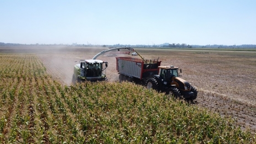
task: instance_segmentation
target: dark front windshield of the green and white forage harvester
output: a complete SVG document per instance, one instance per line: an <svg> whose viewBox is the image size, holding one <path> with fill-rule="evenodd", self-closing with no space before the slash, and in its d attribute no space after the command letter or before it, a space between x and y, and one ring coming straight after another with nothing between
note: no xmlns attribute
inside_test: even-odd
<svg viewBox="0 0 256 144"><path fill-rule="evenodd" d="M101 76L102 63L87 63L86 76L87 77L99 77Z"/></svg>

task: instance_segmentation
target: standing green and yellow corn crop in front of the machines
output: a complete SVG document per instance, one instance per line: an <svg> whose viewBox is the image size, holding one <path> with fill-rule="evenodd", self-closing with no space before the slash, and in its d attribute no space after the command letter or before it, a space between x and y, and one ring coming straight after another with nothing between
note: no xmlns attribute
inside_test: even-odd
<svg viewBox="0 0 256 144"><path fill-rule="evenodd" d="M1 144L255 144L230 118L132 83L63 86L35 54L0 53Z"/></svg>

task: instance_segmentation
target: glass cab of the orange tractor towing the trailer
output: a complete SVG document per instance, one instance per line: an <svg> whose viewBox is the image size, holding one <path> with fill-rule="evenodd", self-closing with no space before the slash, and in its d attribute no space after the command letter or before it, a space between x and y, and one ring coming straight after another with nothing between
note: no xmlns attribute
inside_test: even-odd
<svg viewBox="0 0 256 144"><path fill-rule="evenodd" d="M179 77L178 67L175 66L159 66L159 75L163 79L164 84L170 84L173 78Z"/></svg>

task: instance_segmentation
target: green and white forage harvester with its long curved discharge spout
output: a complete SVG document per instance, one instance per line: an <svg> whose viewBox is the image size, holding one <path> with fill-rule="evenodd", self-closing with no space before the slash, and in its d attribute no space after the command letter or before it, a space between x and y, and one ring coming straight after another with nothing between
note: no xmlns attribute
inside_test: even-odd
<svg viewBox="0 0 256 144"><path fill-rule="evenodd" d="M133 48L126 48L126 47L110 48L96 54L92 59L80 60L79 64L76 64L74 66L72 83L75 83L76 81L84 81L84 80L90 80L90 81L107 80L106 69L107 69L108 63L106 61L102 61L96 58L109 51L113 51L113 50L119 51L120 49L128 49L128 50L134 51Z"/></svg>

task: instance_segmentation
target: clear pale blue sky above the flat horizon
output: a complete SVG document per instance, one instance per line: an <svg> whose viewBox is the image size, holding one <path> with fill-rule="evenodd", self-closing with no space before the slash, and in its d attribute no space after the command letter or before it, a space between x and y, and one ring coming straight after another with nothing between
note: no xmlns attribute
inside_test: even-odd
<svg viewBox="0 0 256 144"><path fill-rule="evenodd" d="M0 0L0 42L256 44L256 0Z"/></svg>

